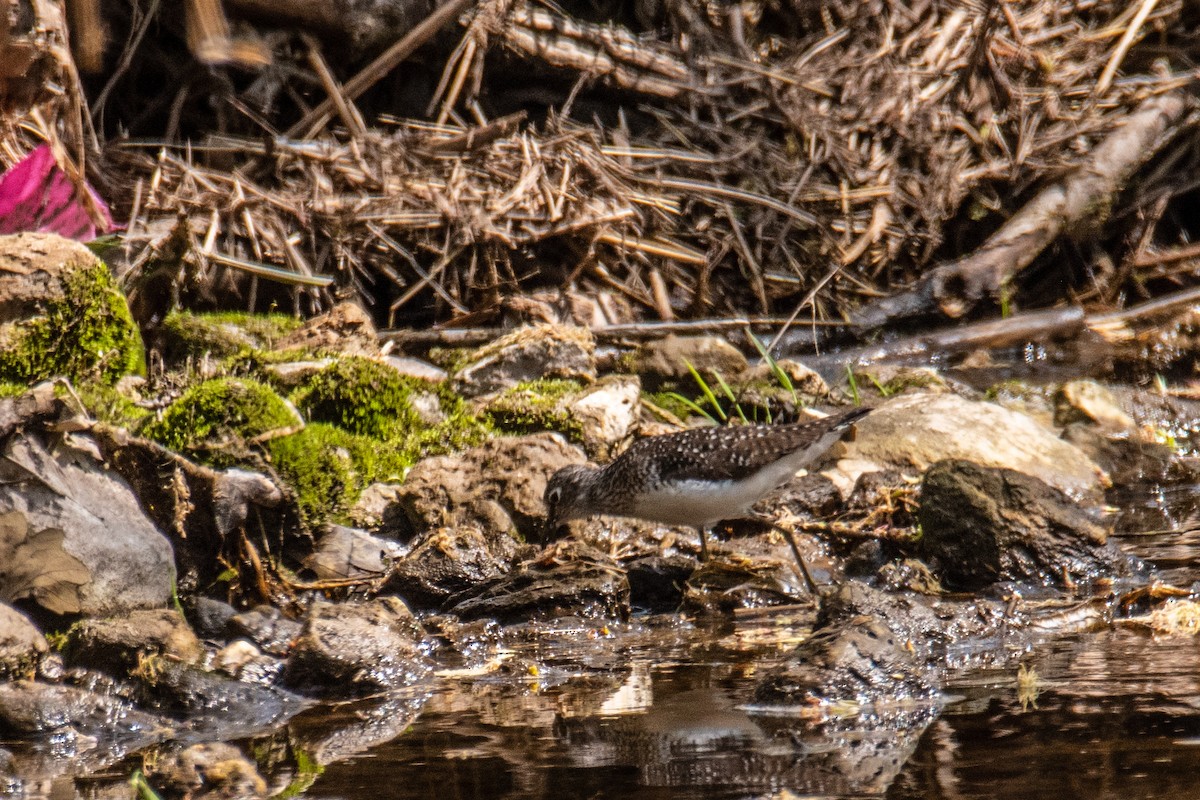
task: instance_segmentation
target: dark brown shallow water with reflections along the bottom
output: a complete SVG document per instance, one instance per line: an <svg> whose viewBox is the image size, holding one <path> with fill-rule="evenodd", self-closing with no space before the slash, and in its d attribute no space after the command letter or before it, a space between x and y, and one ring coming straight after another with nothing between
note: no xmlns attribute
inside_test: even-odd
<svg viewBox="0 0 1200 800"><path fill-rule="evenodd" d="M1180 492L1129 494L1118 529L1178 524L1172 515L1200 499ZM1121 541L1176 585L1200 577L1200 531ZM815 723L748 705L756 675L790 646L786 621L760 613L526 643L516 661L540 657L545 672L442 684L407 733L329 765L307 796L1200 796L1193 638L1117 626L968 651L941 709Z"/></svg>

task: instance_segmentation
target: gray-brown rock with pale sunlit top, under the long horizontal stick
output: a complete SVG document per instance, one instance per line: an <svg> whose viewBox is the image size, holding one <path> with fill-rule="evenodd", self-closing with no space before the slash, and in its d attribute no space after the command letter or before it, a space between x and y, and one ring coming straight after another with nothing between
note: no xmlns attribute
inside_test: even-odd
<svg viewBox="0 0 1200 800"><path fill-rule="evenodd" d="M479 397L539 378L596 375L595 342L584 327L522 327L476 350L454 375L463 397Z"/></svg>

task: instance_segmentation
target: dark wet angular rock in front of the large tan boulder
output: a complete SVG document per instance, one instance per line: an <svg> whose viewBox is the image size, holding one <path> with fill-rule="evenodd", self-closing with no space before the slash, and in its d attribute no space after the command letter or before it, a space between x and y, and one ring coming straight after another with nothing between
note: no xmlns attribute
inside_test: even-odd
<svg viewBox="0 0 1200 800"><path fill-rule="evenodd" d="M1009 469L959 459L935 464L922 485L919 519L922 551L961 589L997 581L1064 587L1130 575L1138 566L1108 543L1108 529L1078 503Z"/></svg>

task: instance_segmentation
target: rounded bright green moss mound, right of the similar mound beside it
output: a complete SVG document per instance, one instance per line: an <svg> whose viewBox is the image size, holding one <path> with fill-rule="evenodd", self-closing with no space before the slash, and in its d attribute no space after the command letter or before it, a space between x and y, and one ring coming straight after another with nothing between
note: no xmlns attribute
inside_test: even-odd
<svg viewBox="0 0 1200 800"><path fill-rule="evenodd" d="M409 396L420 384L370 359L348 357L318 372L295 395L316 422L377 439L406 435L419 425Z"/></svg>

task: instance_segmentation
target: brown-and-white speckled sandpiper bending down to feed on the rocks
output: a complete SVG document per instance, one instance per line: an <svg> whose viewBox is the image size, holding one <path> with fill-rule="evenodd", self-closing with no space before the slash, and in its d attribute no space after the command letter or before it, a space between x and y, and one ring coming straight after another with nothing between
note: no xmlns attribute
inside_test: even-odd
<svg viewBox="0 0 1200 800"><path fill-rule="evenodd" d="M707 559L708 529L745 517L750 506L808 467L870 411L856 408L812 422L692 428L635 441L604 468L564 467L546 485L547 523L593 515L636 517L700 531ZM779 528L816 591L796 539Z"/></svg>

